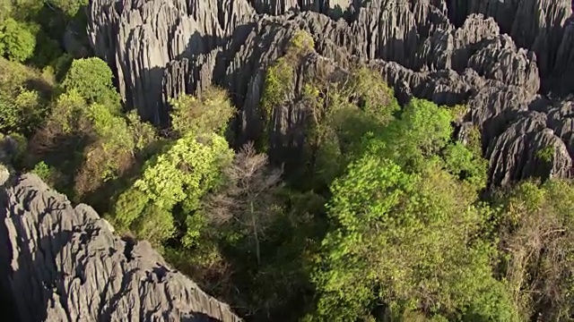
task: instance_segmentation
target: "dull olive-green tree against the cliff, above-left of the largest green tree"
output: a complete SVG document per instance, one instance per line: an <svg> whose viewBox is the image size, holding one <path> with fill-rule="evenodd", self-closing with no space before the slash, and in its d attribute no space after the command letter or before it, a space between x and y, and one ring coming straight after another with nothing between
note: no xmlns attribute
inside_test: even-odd
<svg viewBox="0 0 574 322"><path fill-rule="evenodd" d="M303 98L311 120L306 133L309 172L319 189L361 157L361 138L366 133L385 129L399 110L393 90L380 73L365 67L344 77L316 76L306 84Z"/></svg>

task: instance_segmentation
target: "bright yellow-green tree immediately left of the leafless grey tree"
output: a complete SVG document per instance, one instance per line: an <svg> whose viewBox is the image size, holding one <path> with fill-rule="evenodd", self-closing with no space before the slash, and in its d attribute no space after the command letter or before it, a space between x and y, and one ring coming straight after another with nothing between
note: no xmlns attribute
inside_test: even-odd
<svg viewBox="0 0 574 322"><path fill-rule="evenodd" d="M188 134L147 163L140 179L119 196L111 215L113 220L120 229L162 242L174 233L171 209L181 204L185 212L183 220L188 224L183 242L194 245L204 225L194 217L201 216L195 214L200 200L219 183L222 167L228 165L232 157L232 150L221 136ZM145 218L149 219L152 214L164 217L157 223L166 226L156 227L159 231L151 230L153 227L146 224Z"/></svg>

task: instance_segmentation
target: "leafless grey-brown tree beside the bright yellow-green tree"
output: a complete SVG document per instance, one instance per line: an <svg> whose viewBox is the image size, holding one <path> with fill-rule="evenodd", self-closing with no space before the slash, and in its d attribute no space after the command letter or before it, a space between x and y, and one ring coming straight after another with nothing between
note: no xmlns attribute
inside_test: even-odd
<svg viewBox="0 0 574 322"><path fill-rule="evenodd" d="M277 190L283 185L281 169L257 154L252 142L239 150L233 163L223 170L227 182L208 199L206 210L216 225L237 224L247 228L255 241L257 265L261 262L260 237L274 217Z"/></svg>

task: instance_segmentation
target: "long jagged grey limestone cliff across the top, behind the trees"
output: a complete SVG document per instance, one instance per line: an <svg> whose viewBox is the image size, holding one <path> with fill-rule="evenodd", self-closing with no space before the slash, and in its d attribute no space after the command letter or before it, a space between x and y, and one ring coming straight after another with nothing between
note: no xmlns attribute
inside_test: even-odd
<svg viewBox="0 0 574 322"><path fill-rule="evenodd" d="M459 125L482 130L491 182L570 175L569 0L94 0L89 9L96 54L117 70L126 104L154 123L169 123L170 97L214 83L240 109L239 137L256 138L265 70L307 30L315 55L367 62L399 97L466 104ZM304 106L276 109L284 117L270 137L285 141L272 145L300 145L303 135L290 133L301 133L292 120ZM543 160L548 146L553 157Z"/></svg>

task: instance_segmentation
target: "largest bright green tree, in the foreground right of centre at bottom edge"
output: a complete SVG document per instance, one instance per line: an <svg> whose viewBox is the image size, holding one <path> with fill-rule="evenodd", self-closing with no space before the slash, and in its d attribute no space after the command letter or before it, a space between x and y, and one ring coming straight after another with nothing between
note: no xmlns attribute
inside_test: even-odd
<svg viewBox="0 0 574 322"><path fill-rule="evenodd" d="M491 275L494 249L474 239L486 217L473 206L476 192L439 164L407 174L387 159L363 157L332 192L336 228L315 275L317 320L354 321L377 301L389 318L422 310L513 320L504 285Z"/></svg>

